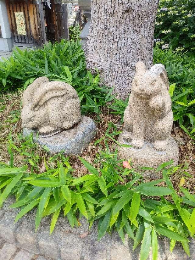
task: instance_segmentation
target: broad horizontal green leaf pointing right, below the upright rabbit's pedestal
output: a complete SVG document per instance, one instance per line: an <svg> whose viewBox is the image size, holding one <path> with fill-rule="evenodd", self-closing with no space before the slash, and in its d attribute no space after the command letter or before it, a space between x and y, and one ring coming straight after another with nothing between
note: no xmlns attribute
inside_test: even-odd
<svg viewBox="0 0 195 260"><path fill-rule="evenodd" d="M165 196L174 193L174 190L171 190L167 187L161 186L142 186L137 189L137 192L140 192L146 196Z"/></svg>

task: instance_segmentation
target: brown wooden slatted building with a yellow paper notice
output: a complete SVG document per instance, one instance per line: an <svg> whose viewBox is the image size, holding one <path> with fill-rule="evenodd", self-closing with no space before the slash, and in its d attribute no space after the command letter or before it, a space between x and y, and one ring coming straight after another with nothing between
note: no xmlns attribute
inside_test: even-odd
<svg viewBox="0 0 195 260"><path fill-rule="evenodd" d="M69 39L67 5L60 1L0 0L0 5L6 8L4 16L7 18L5 17L4 20L9 21L7 30L12 45L40 47L47 41ZM1 31L5 23L0 20ZM0 41L0 50L2 48Z"/></svg>

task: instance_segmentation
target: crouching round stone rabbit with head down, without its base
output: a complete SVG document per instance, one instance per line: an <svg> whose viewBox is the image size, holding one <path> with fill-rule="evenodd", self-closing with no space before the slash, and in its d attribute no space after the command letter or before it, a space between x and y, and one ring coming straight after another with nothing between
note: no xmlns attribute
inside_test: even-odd
<svg viewBox="0 0 195 260"><path fill-rule="evenodd" d="M42 136L70 129L81 118L76 90L65 82L49 82L47 77L39 77L27 87L22 103L22 126Z"/></svg>

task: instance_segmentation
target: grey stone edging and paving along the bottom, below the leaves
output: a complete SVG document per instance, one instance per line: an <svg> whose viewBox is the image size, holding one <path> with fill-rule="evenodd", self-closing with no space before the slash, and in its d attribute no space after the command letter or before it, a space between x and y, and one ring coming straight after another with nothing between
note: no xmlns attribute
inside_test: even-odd
<svg viewBox="0 0 195 260"><path fill-rule="evenodd" d="M133 241L125 239L123 244L119 235L106 234L97 241L97 226L89 233L88 224L80 220L81 226L71 228L68 220L60 216L54 232L49 235L51 217L45 217L35 233L35 211L26 214L18 222L14 219L19 209L9 208L15 202L8 198L0 209L0 260L138 260L140 248L132 250ZM168 239L159 239L159 259L195 259L195 240L190 243L191 257L176 244L173 252L169 250ZM149 260L152 260L150 252Z"/></svg>

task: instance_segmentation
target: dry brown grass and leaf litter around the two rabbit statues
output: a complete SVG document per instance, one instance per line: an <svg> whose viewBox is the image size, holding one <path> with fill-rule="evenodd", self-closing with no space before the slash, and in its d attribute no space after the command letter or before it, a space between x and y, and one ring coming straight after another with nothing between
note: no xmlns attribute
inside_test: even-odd
<svg viewBox="0 0 195 260"><path fill-rule="evenodd" d="M0 96L0 161L4 163L9 162L9 153L7 151L8 139L11 136L12 142L16 147L21 148L24 146L26 140L22 137L22 127L20 119L21 110L21 97L22 92L9 93L7 95ZM104 141L100 142L100 145L94 146L94 142L105 135L105 131L108 128L108 122L115 123L117 125L117 130L122 130L120 125L120 118L109 113L107 109L102 109L102 114L98 120L95 115L89 115L92 117L97 125L97 135L94 141L88 146L86 150L83 151L82 157L88 162L93 163L96 158L96 154L100 149L105 149ZM11 135L10 135L11 132ZM171 181L174 187L178 190L181 177L186 178L183 187L187 187L191 193L194 193L195 188L195 143L191 140L185 132L175 127L173 128L172 136L176 139L179 144L180 149L180 159L179 164L183 166L188 166L186 169L186 175L183 171L178 170L174 175L171 176ZM11 140L10 139L10 140ZM108 140L108 145L111 151L115 149L115 142ZM33 154L36 158L36 163L38 166L37 172L41 172L44 169L44 158L51 166L55 164L50 162L51 154L42 149L38 144L33 144L30 146L25 146L25 151L29 154ZM87 169L81 164L78 156L70 156L69 162L74 171L74 176L81 176L87 173ZM31 167L30 163L24 155L21 155L18 151L14 151L14 165L22 166L24 163ZM187 176L190 174L192 177Z"/></svg>

